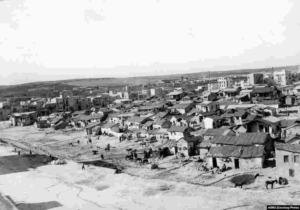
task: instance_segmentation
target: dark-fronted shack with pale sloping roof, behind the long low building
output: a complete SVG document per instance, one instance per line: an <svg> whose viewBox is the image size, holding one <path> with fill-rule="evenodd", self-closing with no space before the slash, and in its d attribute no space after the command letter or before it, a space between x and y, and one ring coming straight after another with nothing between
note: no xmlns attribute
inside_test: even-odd
<svg viewBox="0 0 300 210"><path fill-rule="evenodd" d="M247 132L269 133L272 138L280 138L280 121L280 118L274 116L258 118L247 123Z"/></svg>

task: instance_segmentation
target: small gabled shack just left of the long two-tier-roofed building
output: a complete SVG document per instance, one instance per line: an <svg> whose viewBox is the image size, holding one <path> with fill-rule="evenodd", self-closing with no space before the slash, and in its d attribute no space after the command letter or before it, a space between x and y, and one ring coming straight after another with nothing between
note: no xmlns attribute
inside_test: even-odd
<svg viewBox="0 0 300 210"><path fill-rule="evenodd" d="M177 152L181 152L184 154L184 156L192 156L196 154L195 151L195 145L200 143L203 140L200 136L185 136L177 140L176 146L173 146L173 152L174 155L176 155Z"/></svg>

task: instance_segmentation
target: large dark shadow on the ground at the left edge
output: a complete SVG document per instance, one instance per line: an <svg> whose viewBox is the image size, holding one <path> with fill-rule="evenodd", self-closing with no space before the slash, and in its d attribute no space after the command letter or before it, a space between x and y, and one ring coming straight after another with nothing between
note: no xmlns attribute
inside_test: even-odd
<svg viewBox="0 0 300 210"><path fill-rule="evenodd" d="M26 154L26 155L8 155L0 157L0 175L29 171L44 164L45 155ZM51 158L46 156L46 161Z"/></svg>

